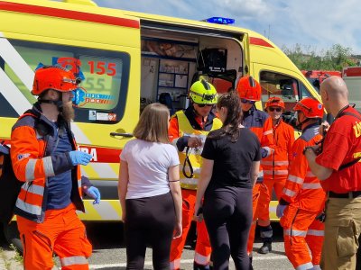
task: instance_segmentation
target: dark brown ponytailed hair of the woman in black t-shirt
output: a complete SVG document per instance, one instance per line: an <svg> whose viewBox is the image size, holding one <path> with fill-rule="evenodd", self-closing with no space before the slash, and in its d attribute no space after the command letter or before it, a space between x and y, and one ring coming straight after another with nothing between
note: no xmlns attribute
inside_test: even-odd
<svg viewBox="0 0 361 270"><path fill-rule="evenodd" d="M227 117L218 133L217 138L229 136L232 142L236 142L239 136L239 126L242 124L243 112L241 101L235 91L222 94L218 98L217 109L227 108ZM212 138L210 136L210 138Z"/></svg>

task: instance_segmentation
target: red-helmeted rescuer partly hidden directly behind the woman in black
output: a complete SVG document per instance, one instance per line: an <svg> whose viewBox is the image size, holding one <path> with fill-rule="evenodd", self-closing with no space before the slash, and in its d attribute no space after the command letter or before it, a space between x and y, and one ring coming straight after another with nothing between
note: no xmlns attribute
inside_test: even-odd
<svg viewBox="0 0 361 270"><path fill-rule="evenodd" d="M255 108L255 102L261 100L261 85L252 76L243 76L236 83L236 91L241 98L244 114L243 125L255 132L261 142L262 157L269 157L273 152L272 120L266 112ZM257 205L261 194L268 195L267 187L263 184L262 167L253 189L253 223L249 232L247 252L252 262L252 250L255 241L255 225L258 219Z"/></svg>

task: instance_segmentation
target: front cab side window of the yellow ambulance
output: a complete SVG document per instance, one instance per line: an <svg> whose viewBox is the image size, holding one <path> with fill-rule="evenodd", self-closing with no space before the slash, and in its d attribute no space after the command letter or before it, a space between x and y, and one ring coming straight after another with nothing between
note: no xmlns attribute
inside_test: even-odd
<svg viewBox="0 0 361 270"><path fill-rule="evenodd" d="M294 105L300 100L298 81L291 76L271 71L261 71L260 83L263 105L271 96L279 96L285 103L285 111L292 111Z"/></svg>

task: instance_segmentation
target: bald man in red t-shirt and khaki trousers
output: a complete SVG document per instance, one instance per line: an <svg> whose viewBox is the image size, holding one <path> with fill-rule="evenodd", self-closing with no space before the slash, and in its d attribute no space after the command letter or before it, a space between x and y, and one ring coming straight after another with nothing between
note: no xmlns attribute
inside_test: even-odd
<svg viewBox="0 0 361 270"><path fill-rule="evenodd" d="M356 269L361 231L361 114L349 105L347 86L338 76L324 80L319 94L327 112L335 117L319 156L314 152L317 147L306 150L310 168L328 195L321 267Z"/></svg>

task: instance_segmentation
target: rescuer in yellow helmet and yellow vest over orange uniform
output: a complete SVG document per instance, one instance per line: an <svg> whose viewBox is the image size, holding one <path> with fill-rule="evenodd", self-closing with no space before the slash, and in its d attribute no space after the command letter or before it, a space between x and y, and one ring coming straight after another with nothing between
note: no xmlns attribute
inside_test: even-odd
<svg viewBox="0 0 361 270"><path fill-rule="evenodd" d="M182 235L171 243L171 269L180 269L180 257L194 216L202 146L210 130L222 122L212 112L217 103L216 88L201 79L190 86L190 106L171 117L169 135L179 150L180 187L183 200ZM209 269L210 243L205 222L197 222L194 269Z"/></svg>

